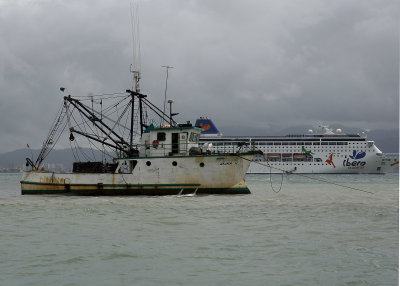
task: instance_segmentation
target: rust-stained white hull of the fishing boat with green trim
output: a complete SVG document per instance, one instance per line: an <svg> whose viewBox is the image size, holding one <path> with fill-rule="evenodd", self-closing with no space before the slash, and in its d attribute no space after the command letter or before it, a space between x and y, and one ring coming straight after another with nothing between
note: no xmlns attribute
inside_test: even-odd
<svg viewBox="0 0 400 286"><path fill-rule="evenodd" d="M118 159L115 173L24 172L21 189L22 194L244 194L249 193L244 177L252 159L253 155Z"/></svg>

